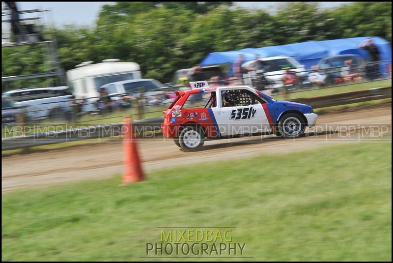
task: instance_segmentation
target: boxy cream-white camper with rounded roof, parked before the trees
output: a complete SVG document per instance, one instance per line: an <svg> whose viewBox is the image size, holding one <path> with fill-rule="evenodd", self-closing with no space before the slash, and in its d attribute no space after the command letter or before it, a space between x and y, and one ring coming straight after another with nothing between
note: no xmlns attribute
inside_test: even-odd
<svg viewBox="0 0 393 263"><path fill-rule="evenodd" d="M135 62L119 62L119 59L105 59L102 63L83 62L67 71L68 86L77 99L100 96L99 88L105 84L141 79L140 65Z"/></svg>

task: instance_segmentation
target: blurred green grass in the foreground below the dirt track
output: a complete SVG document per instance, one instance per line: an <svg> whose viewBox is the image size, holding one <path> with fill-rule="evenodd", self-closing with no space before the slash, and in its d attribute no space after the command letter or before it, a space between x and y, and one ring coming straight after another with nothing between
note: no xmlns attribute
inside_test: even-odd
<svg viewBox="0 0 393 263"><path fill-rule="evenodd" d="M391 261L391 143L178 167L2 195L3 261L140 261L157 227L236 227L244 257ZM151 260L165 260L154 258ZM167 259L168 260L168 259ZM198 261L197 259L170 259Z"/></svg>

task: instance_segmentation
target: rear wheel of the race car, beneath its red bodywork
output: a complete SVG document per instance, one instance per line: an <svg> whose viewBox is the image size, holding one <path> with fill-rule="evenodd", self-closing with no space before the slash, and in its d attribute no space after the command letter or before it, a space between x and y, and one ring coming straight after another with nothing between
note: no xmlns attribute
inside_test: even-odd
<svg viewBox="0 0 393 263"><path fill-rule="evenodd" d="M185 151L200 150L205 142L205 134L201 127L188 126L179 136L179 144Z"/></svg>

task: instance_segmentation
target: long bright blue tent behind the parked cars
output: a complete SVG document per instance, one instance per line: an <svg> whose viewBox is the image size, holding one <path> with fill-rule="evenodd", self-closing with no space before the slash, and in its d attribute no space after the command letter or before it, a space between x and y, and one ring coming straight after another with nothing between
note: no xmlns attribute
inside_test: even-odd
<svg viewBox="0 0 393 263"><path fill-rule="evenodd" d="M312 65L318 63L321 58L326 58L336 55L355 54L365 58L369 61L368 52L359 49L359 45L367 38L366 37L353 37L324 41L307 41L302 43L294 43L280 46L270 46L263 48L246 48L237 51L213 52L207 55L206 58L200 63L202 66L212 64L230 64L228 76L232 75L232 63L236 61L240 54L244 56L244 62L253 60L255 55L259 58L275 57L275 56L288 56L295 58L299 63L304 64L306 69L310 69ZM381 60L392 59L392 47L390 43L381 38L373 36L373 42L377 46ZM387 65L392 64L392 61L380 63L380 71L387 72Z"/></svg>

